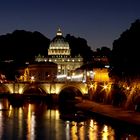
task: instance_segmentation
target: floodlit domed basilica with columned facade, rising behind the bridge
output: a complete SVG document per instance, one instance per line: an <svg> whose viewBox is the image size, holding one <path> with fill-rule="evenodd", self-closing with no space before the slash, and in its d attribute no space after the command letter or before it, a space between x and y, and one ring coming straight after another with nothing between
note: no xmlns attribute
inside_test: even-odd
<svg viewBox="0 0 140 140"><path fill-rule="evenodd" d="M58 29L56 36L50 42L48 57L38 55L36 56L35 61L56 63L57 75L63 75L65 78L71 76L74 70L83 64L83 58L80 55L74 58L71 57L69 43L63 37L60 28Z"/></svg>

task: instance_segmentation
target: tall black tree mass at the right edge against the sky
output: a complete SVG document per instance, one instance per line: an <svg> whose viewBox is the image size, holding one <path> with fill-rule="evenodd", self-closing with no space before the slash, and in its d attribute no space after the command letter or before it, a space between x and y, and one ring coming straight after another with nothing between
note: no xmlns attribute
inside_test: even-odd
<svg viewBox="0 0 140 140"><path fill-rule="evenodd" d="M122 78L140 75L140 20L131 24L130 29L124 31L113 42L111 56L111 75Z"/></svg>

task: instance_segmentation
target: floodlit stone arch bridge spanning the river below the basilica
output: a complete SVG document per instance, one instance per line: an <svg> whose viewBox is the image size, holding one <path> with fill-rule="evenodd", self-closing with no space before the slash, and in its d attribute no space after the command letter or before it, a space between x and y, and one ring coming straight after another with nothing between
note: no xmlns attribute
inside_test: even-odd
<svg viewBox="0 0 140 140"><path fill-rule="evenodd" d="M6 82L0 84L0 93L9 94L60 94L63 91L88 94L86 83L82 82Z"/></svg>

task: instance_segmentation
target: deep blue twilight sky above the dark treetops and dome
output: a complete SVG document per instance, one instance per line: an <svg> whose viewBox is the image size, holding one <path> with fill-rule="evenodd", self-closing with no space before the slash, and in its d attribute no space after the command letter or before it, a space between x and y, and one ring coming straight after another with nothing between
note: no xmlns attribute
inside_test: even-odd
<svg viewBox="0 0 140 140"><path fill-rule="evenodd" d="M87 40L95 50L112 43L140 18L140 0L0 0L0 35L16 29Z"/></svg>

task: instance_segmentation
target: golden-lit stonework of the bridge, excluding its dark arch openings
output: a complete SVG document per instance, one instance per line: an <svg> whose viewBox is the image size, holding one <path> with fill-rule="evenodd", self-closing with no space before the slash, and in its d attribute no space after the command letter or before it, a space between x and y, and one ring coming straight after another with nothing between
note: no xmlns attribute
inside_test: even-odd
<svg viewBox="0 0 140 140"><path fill-rule="evenodd" d="M64 88L77 88L82 94L88 94L88 87L86 83L82 82L5 82L4 86L9 93L24 94L29 88L42 89L46 94L59 94Z"/></svg>

